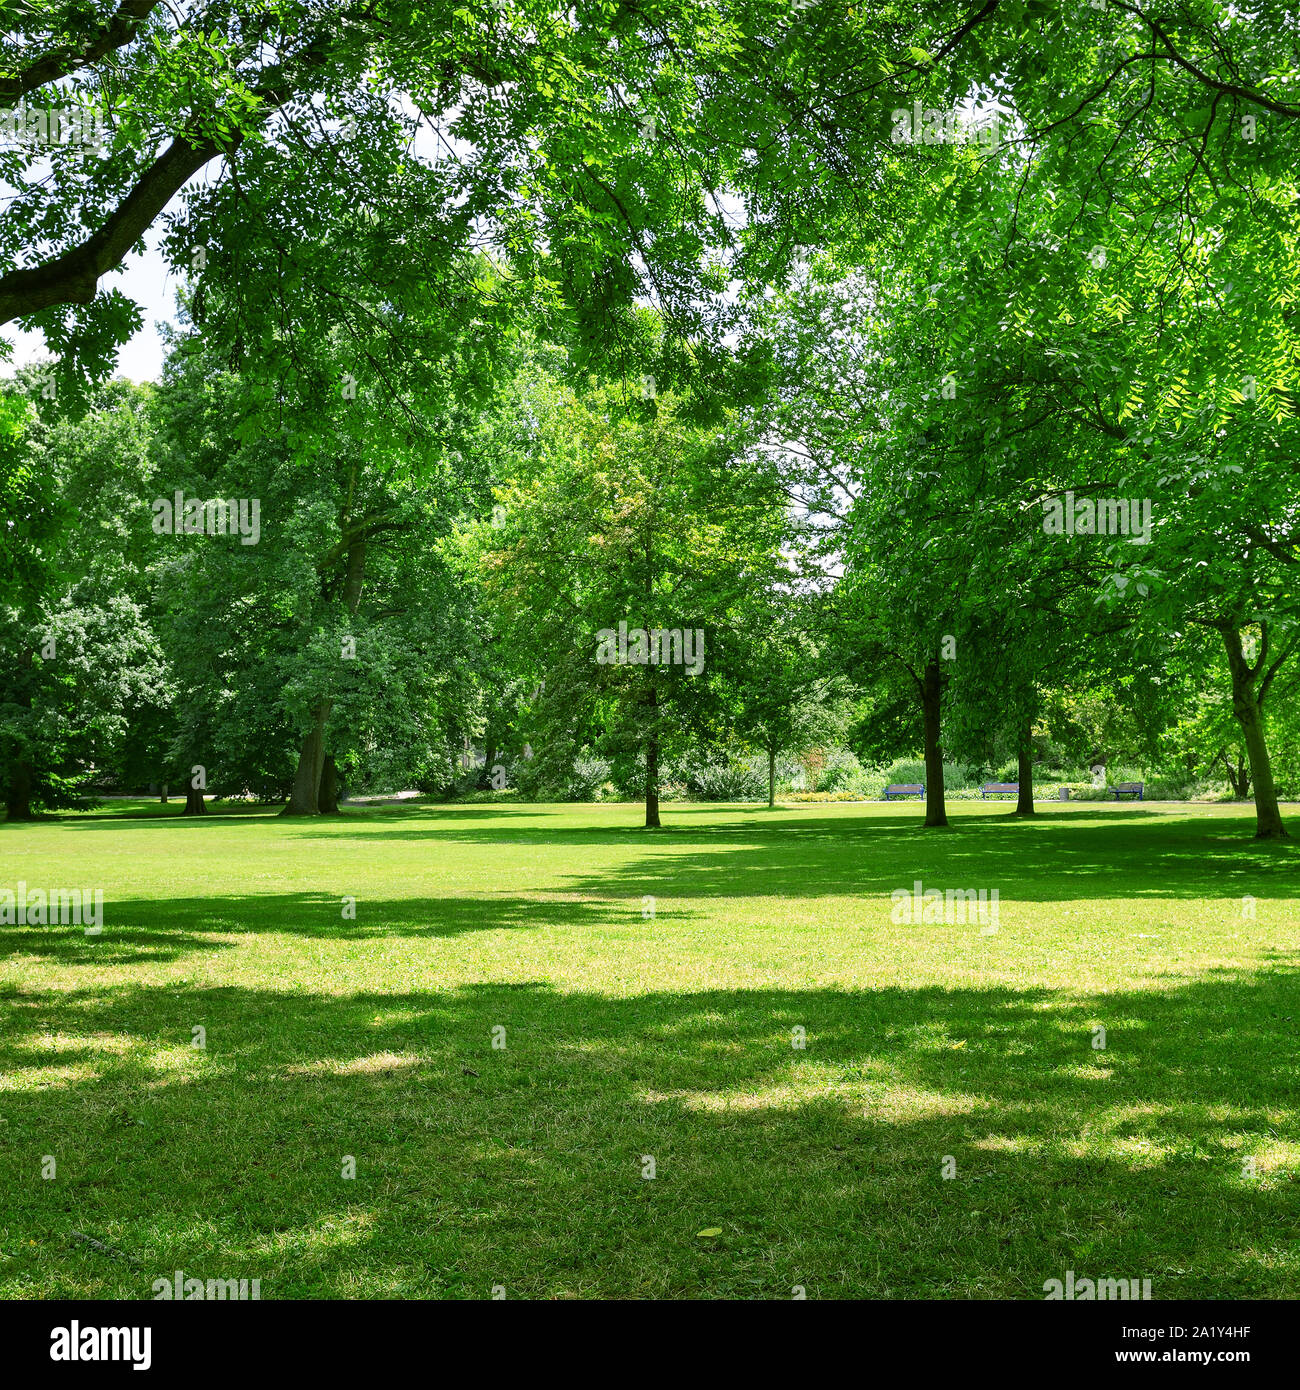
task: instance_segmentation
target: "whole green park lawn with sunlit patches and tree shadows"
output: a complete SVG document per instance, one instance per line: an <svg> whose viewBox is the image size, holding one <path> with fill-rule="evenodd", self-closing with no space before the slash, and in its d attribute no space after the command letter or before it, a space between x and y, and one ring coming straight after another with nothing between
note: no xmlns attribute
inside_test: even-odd
<svg viewBox="0 0 1300 1390"><path fill-rule="evenodd" d="M106 899L0 927L3 1297L1300 1297L1249 808L178 810L0 826L0 887ZM997 933L893 923L918 878Z"/></svg>

